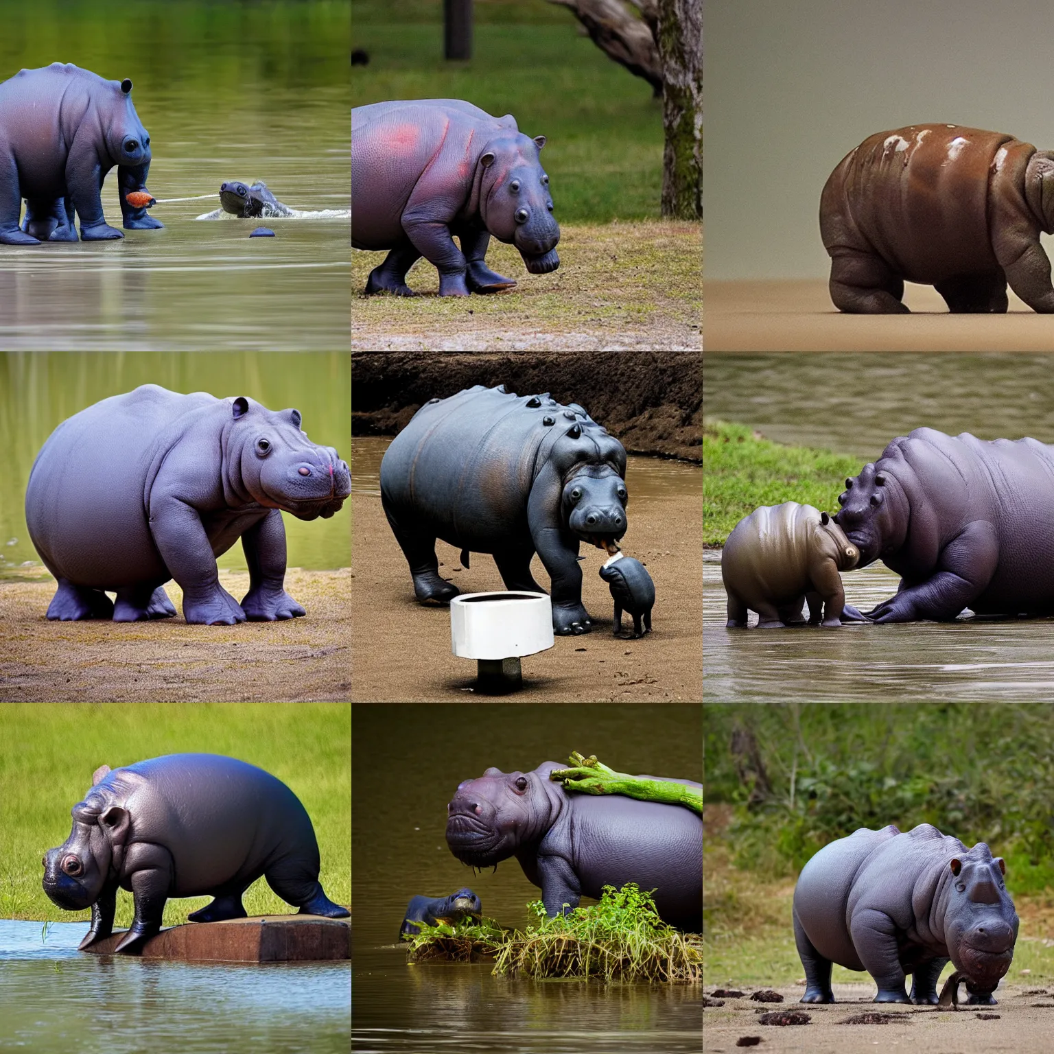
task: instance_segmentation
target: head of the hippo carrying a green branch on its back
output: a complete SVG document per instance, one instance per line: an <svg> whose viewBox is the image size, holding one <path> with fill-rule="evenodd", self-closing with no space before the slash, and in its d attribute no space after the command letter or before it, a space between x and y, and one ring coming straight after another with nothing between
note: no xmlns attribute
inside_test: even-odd
<svg viewBox="0 0 1054 1054"><path fill-rule="evenodd" d="M548 827L549 780L545 774L488 768L457 784L447 805L447 845L462 863L490 867Z"/></svg>

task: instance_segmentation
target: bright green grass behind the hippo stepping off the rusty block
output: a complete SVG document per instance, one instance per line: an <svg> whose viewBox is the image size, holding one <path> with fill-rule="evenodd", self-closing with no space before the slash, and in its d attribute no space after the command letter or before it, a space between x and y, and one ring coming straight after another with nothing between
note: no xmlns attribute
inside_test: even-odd
<svg viewBox="0 0 1054 1054"><path fill-rule="evenodd" d="M200 752L240 758L272 773L304 802L321 853L321 883L351 903L351 706L346 703L11 703L0 706L0 917L70 922L41 887L44 852L70 834L70 809L92 773L162 754ZM174 925L209 898L170 900ZM260 879L245 896L250 915L293 909ZM117 924L132 919L118 894Z"/></svg>

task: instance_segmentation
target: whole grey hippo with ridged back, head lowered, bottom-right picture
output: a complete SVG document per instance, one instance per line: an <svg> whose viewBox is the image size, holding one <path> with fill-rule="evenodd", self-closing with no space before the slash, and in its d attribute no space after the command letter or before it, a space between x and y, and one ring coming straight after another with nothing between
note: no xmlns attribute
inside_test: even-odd
<svg viewBox="0 0 1054 1054"><path fill-rule="evenodd" d="M794 891L794 933L805 968L802 1002L834 1002L831 965L866 970L875 1002L937 1002L949 959L969 1001L994 1003L1010 969L1017 914L1007 865L984 842L968 850L929 823L906 834L861 827L825 845ZM912 994L904 975L912 974Z"/></svg>

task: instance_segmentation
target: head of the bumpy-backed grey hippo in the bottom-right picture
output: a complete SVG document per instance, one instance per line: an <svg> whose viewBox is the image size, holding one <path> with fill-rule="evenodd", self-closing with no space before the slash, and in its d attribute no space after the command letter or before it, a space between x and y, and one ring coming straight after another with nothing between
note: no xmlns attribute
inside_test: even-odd
<svg viewBox="0 0 1054 1054"><path fill-rule="evenodd" d="M972 994L982 995L1010 969L1017 913L1007 893L1007 865L983 842L949 861L945 873L944 942Z"/></svg>

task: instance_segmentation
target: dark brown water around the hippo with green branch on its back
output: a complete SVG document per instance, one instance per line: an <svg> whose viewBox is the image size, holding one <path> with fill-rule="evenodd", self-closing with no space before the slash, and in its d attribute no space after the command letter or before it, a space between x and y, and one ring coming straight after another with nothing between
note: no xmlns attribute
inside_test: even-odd
<svg viewBox="0 0 1054 1054"><path fill-rule="evenodd" d="M352 759L354 1042L358 1054L469 1051L689 1054L701 992L678 985L531 981L486 963L408 965L407 902L471 886L485 914L528 921L540 897L514 860L473 874L450 854L446 804L489 765L505 772L572 749L614 767L701 779L701 708L473 704L359 706Z"/></svg>

